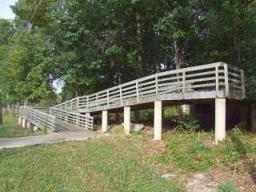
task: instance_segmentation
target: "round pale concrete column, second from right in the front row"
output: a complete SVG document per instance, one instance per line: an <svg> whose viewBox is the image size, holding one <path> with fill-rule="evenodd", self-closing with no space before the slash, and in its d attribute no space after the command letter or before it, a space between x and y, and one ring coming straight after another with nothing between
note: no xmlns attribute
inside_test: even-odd
<svg viewBox="0 0 256 192"><path fill-rule="evenodd" d="M154 101L154 141L162 139L162 101Z"/></svg>

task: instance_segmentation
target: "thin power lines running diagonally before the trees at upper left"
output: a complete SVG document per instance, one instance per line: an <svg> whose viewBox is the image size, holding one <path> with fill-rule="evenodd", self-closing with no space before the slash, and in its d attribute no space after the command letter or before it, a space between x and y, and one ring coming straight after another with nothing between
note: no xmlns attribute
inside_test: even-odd
<svg viewBox="0 0 256 192"><path fill-rule="evenodd" d="M41 3L42 3L42 0L40 0L40 2L38 3L38 6L37 6L37 7L35 8L35 10L34 10L34 7L35 7L35 5L37 4L37 2L38 2L38 0L35 0L34 4L33 4L33 6L32 6L32 9L31 9L31 11L30 11L30 13L29 13L29 14L27 15L27 17L26 17L26 20L25 20L25 22L24 22L24 26L21 28L22 31L21 31L20 34L18 35L18 38L16 38L15 42L13 43L13 45L10 47L10 50L9 50L7 56L6 56L6 60L7 60L7 58L10 57L10 54L11 54L12 51L14 50L14 47L16 46L16 43L18 42L19 38L21 37L23 31L24 31L24 30L26 29L26 27L28 26L28 23L30 23L30 22L32 21L32 19L33 19L33 17L34 17L34 14L37 12L38 7L39 7L39 6L41 5ZM33 10L34 10L34 12L33 12ZM31 18L30 18L30 15L31 15ZM29 18L30 18L30 21L28 21ZM5 60L5 62L6 62L6 60Z"/></svg>

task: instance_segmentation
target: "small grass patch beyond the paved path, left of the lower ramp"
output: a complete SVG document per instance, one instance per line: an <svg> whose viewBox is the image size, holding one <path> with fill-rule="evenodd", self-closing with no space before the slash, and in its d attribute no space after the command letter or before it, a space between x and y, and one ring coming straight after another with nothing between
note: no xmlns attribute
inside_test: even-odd
<svg viewBox="0 0 256 192"><path fill-rule="evenodd" d="M18 118L14 118L14 116L4 114L2 120L3 125L0 126L0 138L19 138L40 134L22 129L21 125L18 124Z"/></svg>

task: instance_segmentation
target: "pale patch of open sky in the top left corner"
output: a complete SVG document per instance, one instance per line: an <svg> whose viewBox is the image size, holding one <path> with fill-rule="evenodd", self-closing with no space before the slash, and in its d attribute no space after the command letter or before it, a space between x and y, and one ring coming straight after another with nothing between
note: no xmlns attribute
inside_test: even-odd
<svg viewBox="0 0 256 192"><path fill-rule="evenodd" d="M10 9L18 0L0 0L0 18L14 19L15 14Z"/></svg>

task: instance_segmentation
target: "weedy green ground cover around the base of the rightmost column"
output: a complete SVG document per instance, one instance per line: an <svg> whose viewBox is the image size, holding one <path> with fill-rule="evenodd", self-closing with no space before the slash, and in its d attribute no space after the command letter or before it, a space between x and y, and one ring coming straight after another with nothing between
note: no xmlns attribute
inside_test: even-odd
<svg viewBox="0 0 256 192"><path fill-rule="evenodd" d="M200 134L200 137L198 136ZM166 151L160 162L169 159L174 167L191 172L202 172L211 167L225 167L227 170L242 171L238 164L245 155L256 153L254 136L236 127L227 135L225 141L218 146L206 145L205 141L214 142L211 133L174 132L164 134Z"/></svg>

